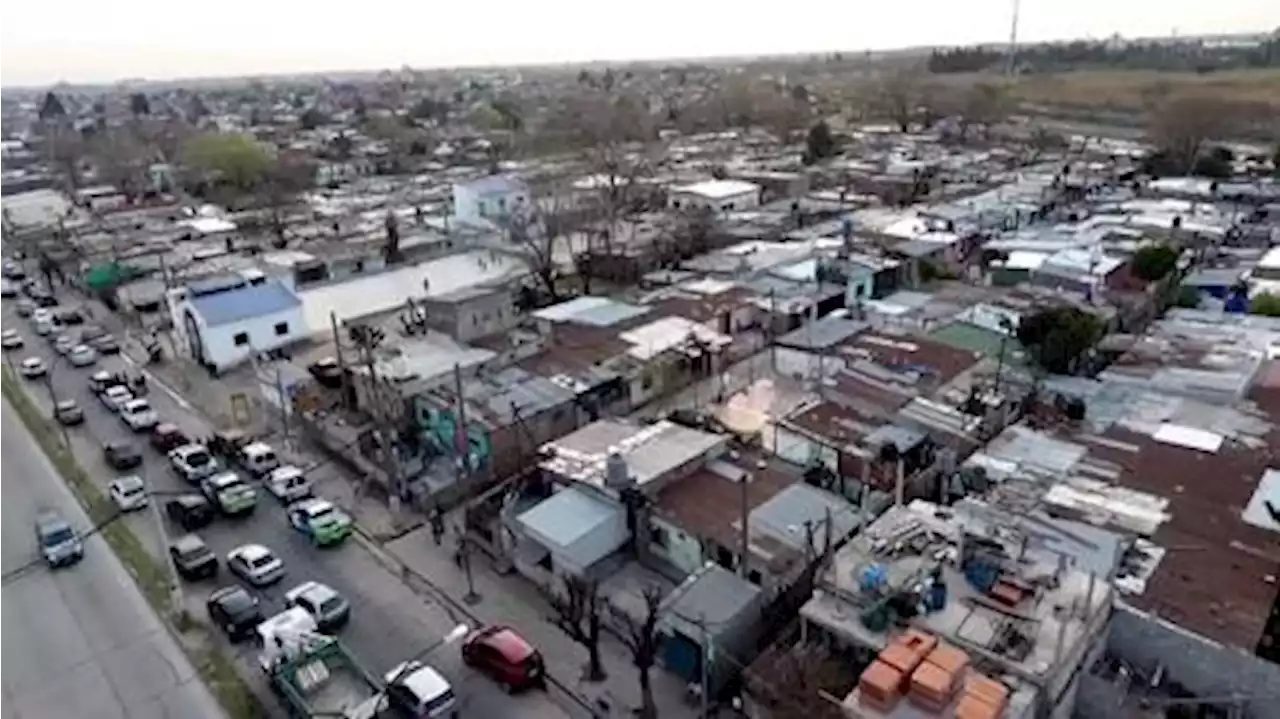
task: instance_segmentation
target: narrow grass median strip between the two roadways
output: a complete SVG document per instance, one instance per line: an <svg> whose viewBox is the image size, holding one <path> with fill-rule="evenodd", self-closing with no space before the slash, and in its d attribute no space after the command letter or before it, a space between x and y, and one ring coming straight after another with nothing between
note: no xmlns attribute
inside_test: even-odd
<svg viewBox="0 0 1280 719"><path fill-rule="evenodd" d="M116 514L115 507L76 462L70 449L63 444L59 429L44 416L13 374L4 367L0 367L0 394L9 400L58 473L72 487L72 493L84 507L93 526L102 526L102 539L133 576L147 603L165 620L178 617L179 626L177 628L182 633L202 632L204 628L198 624L182 620L186 617L184 613L175 613L178 608L173 606L170 597L168 569L147 553L128 526L120 522L106 523ZM104 523L106 525L104 526ZM266 718L262 702L236 672L236 665L211 644L210 638L201 637L201 649L192 649L186 642L179 642L191 655L192 664L209 686L209 691L218 697L219 704L232 719Z"/></svg>

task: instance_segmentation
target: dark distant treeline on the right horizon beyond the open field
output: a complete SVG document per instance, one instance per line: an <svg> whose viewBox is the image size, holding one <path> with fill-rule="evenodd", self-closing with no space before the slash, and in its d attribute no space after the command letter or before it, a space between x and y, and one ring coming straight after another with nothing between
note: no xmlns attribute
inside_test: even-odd
<svg viewBox="0 0 1280 719"><path fill-rule="evenodd" d="M974 46L934 50L929 72L977 73L1009 63L1007 47ZM1019 73L1079 69L1171 70L1211 73L1247 68L1280 68L1280 37L1258 43L1065 42L1018 47Z"/></svg>

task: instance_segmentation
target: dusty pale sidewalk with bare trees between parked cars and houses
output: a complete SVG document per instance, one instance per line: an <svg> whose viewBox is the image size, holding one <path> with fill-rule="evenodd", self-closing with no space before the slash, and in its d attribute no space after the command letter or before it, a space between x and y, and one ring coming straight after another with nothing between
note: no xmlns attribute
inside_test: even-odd
<svg viewBox="0 0 1280 719"><path fill-rule="evenodd" d="M387 555L393 563L403 564L417 576L417 582L411 585L428 585L415 589L431 594L486 624L509 624L518 629L543 652L547 672L553 682L563 684L564 690L585 704L580 707L580 715L586 715L590 707L595 716L631 716L632 709L640 706L639 673L632 664L630 650L617 637L608 632L602 632L600 637L600 659L608 678L599 683L584 682L586 650L556 626L556 614L550 605L520 574L500 576L493 571L488 557L476 553L472 580L481 599L474 605L467 605L462 601L467 594L466 576L453 562L452 532L445 535L440 546L436 546L430 530L422 525L420 517L406 516L396 521L385 505L369 498L356 499L349 489L342 493L338 486L326 486L323 491L356 517L366 540L378 545L375 553ZM348 504L351 502L356 505ZM448 518L445 525L452 527L454 526L452 522L453 519ZM682 681L660 665L650 670L650 677L658 716L662 719L698 716L696 705L685 700L686 686Z"/></svg>

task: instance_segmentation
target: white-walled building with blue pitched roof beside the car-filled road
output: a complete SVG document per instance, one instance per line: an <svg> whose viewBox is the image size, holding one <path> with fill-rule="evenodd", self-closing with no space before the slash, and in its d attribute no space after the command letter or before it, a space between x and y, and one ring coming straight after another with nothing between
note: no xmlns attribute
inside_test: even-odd
<svg viewBox="0 0 1280 719"><path fill-rule="evenodd" d="M175 349L219 372L311 334L298 296L260 273L173 289L166 304Z"/></svg>

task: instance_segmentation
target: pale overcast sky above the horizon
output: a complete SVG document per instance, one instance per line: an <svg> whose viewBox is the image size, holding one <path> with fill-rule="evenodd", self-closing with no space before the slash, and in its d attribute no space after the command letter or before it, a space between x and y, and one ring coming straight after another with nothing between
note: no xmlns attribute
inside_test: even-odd
<svg viewBox="0 0 1280 719"><path fill-rule="evenodd" d="M1014 0L4 3L0 86L1001 42ZM1019 40L1270 32L1280 0L1021 0Z"/></svg>

